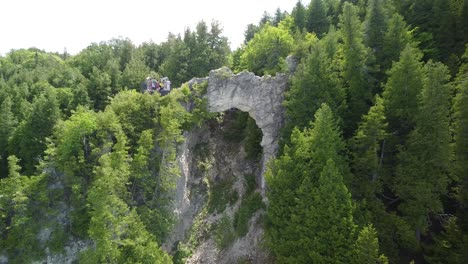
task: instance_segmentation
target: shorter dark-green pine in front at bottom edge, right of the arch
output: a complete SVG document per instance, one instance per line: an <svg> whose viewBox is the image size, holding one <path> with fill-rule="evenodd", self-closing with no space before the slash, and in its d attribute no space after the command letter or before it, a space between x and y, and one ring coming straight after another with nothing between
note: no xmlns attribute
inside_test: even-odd
<svg viewBox="0 0 468 264"><path fill-rule="evenodd" d="M291 222L296 231L295 263L346 263L351 258L356 226L351 194L335 162L329 159L318 184L305 178L297 192ZM281 260L281 259L279 259Z"/></svg>

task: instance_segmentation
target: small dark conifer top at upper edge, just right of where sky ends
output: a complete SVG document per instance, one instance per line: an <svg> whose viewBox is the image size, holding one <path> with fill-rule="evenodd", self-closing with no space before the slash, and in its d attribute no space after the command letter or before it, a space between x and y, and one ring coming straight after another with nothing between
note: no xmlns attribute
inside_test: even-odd
<svg viewBox="0 0 468 264"><path fill-rule="evenodd" d="M307 31L315 32L321 38L330 26L323 0L312 0L307 13Z"/></svg>

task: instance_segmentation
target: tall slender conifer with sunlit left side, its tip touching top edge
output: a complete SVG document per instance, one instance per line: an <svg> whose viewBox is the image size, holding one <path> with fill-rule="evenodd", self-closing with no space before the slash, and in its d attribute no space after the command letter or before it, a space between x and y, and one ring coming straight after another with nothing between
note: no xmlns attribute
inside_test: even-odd
<svg viewBox="0 0 468 264"><path fill-rule="evenodd" d="M372 101L369 51L363 44L363 32L357 7L343 6L340 29L343 38L342 78L346 87L348 111L345 117L345 134L350 136L362 115L367 113Z"/></svg>

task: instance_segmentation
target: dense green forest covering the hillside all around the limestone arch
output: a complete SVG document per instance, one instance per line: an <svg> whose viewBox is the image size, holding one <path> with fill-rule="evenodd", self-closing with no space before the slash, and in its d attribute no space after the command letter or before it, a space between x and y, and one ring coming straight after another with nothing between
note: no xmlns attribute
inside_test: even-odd
<svg viewBox="0 0 468 264"><path fill-rule="evenodd" d="M118 38L76 55L0 57L0 256L29 263L83 241L83 263L170 263L159 245L175 220L176 147L211 117L206 84L184 83L228 65L291 76L268 202L249 185L215 228L221 248L266 208L278 263L466 261L468 2L291 9L248 25L232 52L219 23L200 22L160 44ZM147 76L177 88L142 93ZM261 131L236 115L225 136L259 160ZM223 213L231 196L211 190L206 213Z"/></svg>

